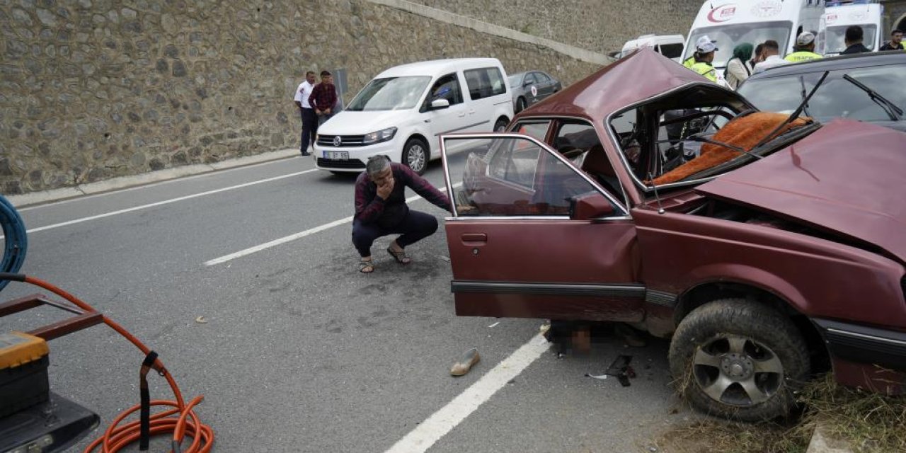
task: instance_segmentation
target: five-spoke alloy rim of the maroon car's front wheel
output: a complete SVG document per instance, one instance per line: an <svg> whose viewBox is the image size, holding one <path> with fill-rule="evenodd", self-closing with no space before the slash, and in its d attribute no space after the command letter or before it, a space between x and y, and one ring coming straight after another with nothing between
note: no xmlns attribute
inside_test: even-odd
<svg viewBox="0 0 906 453"><path fill-rule="evenodd" d="M784 381L784 367L766 345L720 334L696 349L692 378L712 400L750 407L770 400Z"/></svg>

